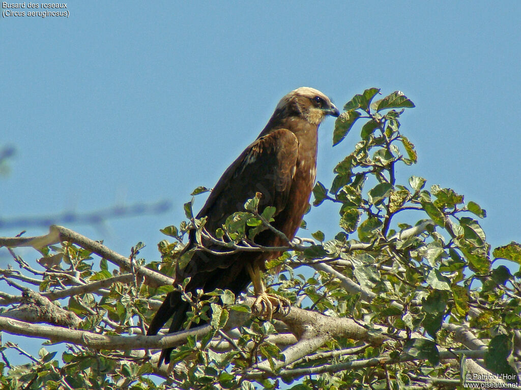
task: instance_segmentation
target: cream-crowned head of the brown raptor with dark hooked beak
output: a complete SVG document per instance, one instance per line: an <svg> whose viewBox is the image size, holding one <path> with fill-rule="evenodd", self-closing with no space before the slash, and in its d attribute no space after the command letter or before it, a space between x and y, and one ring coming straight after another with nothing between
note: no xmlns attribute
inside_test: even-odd
<svg viewBox="0 0 521 390"><path fill-rule="evenodd" d="M327 115L338 116L340 112L331 100L319 90L300 87L284 96L277 105L277 111L287 115L296 115L313 125L319 125Z"/></svg>

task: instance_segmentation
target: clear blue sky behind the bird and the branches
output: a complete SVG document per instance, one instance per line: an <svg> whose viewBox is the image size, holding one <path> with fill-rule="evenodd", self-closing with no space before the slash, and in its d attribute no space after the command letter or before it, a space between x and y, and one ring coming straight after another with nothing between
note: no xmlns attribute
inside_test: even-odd
<svg viewBox="0 0 521 390"><path fill-rule="evenodd" d="M0 177L0 218L167 200L166 214L103 231L68 225L124 255L143 241L152 261L159 229L180 222L192 189L216 183L284 94L311 86L341 107L379 87L416 103L402 130L419 163L400 177L478 202L493 247L521 240L520 3L73 1L68 10L0 21L0 147L17 149ZM325 184L359 136L332 148L333 123L320 127ZM326 206L306 220L333 234L337 215Z"/></svg>

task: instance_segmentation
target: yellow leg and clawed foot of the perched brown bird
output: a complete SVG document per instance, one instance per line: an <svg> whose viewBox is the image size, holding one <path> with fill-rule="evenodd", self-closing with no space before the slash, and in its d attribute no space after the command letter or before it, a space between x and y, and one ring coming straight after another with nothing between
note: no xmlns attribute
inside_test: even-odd
<svg viewBox="0 0 521 390"><path fill-rule="evenodd" d="M266 287L262 280L261 269L256 265L247 264L246 268L253 282L253 293L255 294L255 302L253 303L253 310L268 321L275 311L281 311L284 314L289 313L291 302L283 296L268 294Z"/></svg>

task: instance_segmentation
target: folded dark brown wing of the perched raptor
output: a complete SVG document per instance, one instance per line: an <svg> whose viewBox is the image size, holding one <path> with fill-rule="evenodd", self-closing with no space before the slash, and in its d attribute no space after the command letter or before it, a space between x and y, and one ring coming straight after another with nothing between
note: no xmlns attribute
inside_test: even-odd
<svg viewBox="0 0 521 390"><path fill-rule="evenodd" d="M262 193L259 211L275 206L276 214L286 207L292 179L296 170L299 142L287 129L278 129L257 138L247 147L222 174L197 218L206 216L206 229L211 234L226 222L226 218L237 211L244 211L246 200ZM190 249L195 241L195 232L190 234ZM222 248L217 248L222 250ZM193 277L194 272L207 272L215 268L227 268L237 256L218 256L195 253L185 269L178 273L177 280Z"/></svg>

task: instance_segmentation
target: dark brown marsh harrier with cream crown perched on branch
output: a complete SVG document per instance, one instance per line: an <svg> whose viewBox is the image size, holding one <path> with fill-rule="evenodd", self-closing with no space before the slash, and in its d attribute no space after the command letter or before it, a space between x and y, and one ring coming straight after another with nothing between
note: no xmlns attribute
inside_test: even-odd
<svg viewBox="0 0 521 390"><path fill-rule="evenodd" d="M276 208L271 225L289 240L295 237L302 217L309 205L315 183L318 126L327 115L339 116L331 100L314 88L301 87L284 96L266 127L222 174L196 218L206 217L205 228L210 233L222 227L234 212L244 211L244 203L257 192L262 193L259 210L266 206ZM263 246L286 246L282 235L271 229L258 233L254 242ZM190 231L189 242L183 253L197 244L195 230ZM215 243L207 243L209 249ZM222 248L220 248L222 249ZM280 252L235 252L217 255L195 251L184 268L176 269L175 283L187 277L190 282L185 292L197 289L210 292L216 288L231 290L235 295L253 282L258 311L271 317L273 308L288 305L284 298L267 294L262 281L265 262L280 256ZM172 317L169 333L183 330L190 304L172 291L158 309L147 335L155 335ZM173 348L164 349L158 365L170 361Z"/></svg>

